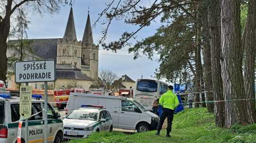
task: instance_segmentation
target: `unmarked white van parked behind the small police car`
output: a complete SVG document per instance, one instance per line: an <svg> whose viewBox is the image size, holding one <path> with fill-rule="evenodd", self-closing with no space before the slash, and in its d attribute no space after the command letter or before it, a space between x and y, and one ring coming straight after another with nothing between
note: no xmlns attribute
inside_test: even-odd
<svg viewBox="0 0 256 143"><path fill-rule="evenodd" d="M159 117L144 109L138 102L125 97L71 93L67 102L68 113L82 104L99 105L110 111L113 127L146 132L156 129Z"/></svg>

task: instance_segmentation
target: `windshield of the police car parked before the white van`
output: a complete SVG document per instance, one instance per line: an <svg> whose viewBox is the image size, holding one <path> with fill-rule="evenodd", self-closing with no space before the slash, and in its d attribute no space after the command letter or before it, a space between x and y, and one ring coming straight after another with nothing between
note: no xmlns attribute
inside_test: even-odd
<svg viewBox="0 0 256 143"><path fill-rule="evenodd" d="M71 112L67 118L69 119L80 119L80 120L91 120L96 121L98 117L97 112L85 111L82 109L76 109Z"/></svg>

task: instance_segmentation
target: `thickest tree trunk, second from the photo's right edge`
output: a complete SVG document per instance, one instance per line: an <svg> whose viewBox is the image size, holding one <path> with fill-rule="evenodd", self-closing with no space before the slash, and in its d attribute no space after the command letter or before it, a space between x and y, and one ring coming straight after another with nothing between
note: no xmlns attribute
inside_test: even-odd
<svg viewBox="0 0 256 143"><path fill-rule="evenodd" d="M225 127L247 124L242 75L240 0L221 0L221 74L225 100ZM237 100L237 101L230 101Z"/></svg>

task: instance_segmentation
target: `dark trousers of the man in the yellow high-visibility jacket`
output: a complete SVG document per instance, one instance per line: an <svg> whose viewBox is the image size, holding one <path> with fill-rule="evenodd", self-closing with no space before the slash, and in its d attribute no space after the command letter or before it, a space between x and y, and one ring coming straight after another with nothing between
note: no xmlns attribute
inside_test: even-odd
<svg viewBox="0 0 256 143"><path fill-rule="evenodd" d="M160 117L160 122L158 124L158 129L157 131L160 132L162 129L162 126L165 122L165 118L167 117L167 134L169 135L172 131L172 124L173 124L173 119L174 119L174 110L172 109L167 109L167 108L163 108L163 113Z"/></svg>

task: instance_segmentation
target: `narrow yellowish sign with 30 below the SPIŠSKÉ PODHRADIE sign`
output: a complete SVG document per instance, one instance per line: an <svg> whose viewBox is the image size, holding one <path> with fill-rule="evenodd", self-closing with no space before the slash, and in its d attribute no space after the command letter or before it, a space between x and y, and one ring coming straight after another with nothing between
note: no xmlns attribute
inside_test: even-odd
<svg viewBox="0 0 256 143"><path fill-rule="evenodd" d="M23 118L31 115L32 86L21 86L19 96L19 114Z"/></svg>

